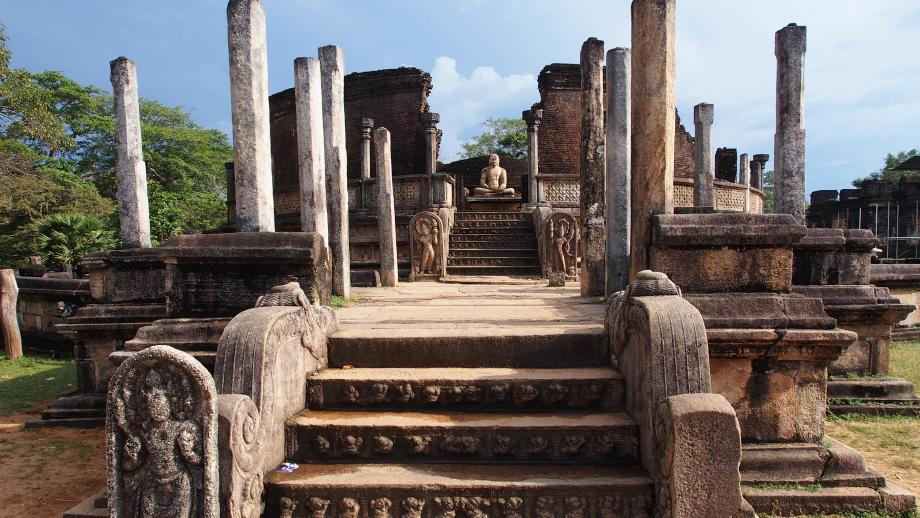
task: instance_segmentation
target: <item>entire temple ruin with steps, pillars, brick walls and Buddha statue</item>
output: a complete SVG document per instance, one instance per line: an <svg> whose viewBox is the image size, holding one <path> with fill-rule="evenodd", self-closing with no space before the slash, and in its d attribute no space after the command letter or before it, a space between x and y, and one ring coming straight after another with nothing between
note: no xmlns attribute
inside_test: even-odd
<svg viewBox="0 0 920 518"><path fill-rule="evenodd" d="M269 97L266 11L231 0L226 232L145 248L128 199L135 248L91 257L59 403L105 409L108 489L65 516L913 509L825 435L866 390L828 373L885 372L913 306L870 284L871 232L804 224L805 28L776 34L763 214L768 155L713 154L712 104L681 124L675 9L634 0L630 48L543 68L527 160L442 164L427 73L328 45Z"/></svg>

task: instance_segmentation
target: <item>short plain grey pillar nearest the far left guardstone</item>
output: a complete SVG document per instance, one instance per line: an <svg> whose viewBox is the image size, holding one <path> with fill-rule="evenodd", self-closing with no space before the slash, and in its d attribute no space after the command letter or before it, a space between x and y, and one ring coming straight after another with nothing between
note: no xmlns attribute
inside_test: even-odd
<svg viewBox="0 0 920 518"><path fill-rule="evenodd" d="M374 130L377 155L377 233L380 240L380 284L396 286L396 209L393 207L393 162L390 158L390 132Z"/></svg>

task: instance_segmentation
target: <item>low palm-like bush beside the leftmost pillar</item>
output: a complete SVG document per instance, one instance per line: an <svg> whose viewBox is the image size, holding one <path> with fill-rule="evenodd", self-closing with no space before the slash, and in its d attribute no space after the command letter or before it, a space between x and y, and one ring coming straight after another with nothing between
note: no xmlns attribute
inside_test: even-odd
<svg viewBox="0 0 920 518"><path fill-rule="evenodd" d="M49 266L79 264L92 252L115 248L112 231L92 216L78 213L58 213L40 219L35 224L38 251Z"/></svg>

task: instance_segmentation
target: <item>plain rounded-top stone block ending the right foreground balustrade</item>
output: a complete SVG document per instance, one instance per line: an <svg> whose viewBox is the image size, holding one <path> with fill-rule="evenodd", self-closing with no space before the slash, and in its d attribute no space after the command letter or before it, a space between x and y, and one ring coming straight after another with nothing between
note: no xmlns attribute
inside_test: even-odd
<svg viewBox="0 0 920 518"><path fill-rule="evenodd" d="M718 394L671 396L658 407L658 421L663 475L658 513L739 516L746 507L738 470L741 431L728 401Z"/></svg>

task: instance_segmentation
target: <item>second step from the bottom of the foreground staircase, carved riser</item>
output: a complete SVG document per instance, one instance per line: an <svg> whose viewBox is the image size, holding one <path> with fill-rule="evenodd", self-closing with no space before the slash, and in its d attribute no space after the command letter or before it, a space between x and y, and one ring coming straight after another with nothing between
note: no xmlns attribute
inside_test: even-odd
<svg viewBox="0 0 920 518"><path fill-rule="evenodd" d="M638 430L625 412L304 411L288 420L295 462L631 464Z"/></svg>

